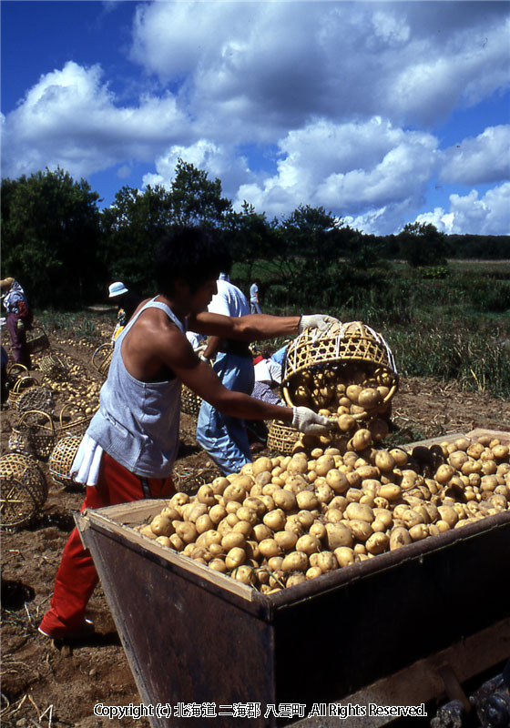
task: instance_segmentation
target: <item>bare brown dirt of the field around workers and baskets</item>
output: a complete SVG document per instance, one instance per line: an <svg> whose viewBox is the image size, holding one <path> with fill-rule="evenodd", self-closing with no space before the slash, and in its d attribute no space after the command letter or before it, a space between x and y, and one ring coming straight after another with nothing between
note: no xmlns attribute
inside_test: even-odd
<svg viewBox="0 0 510 728"><path fill-rule="evenodd" d="M105 329L105 339L107 339ZM75 379L100 383L92 367L92 344L51 337L52 350L70 364L79 365ZM39 358L40 360L40 358ZM35 359L35 363L37 359ZM35 370L40 378L41 372ZM56 397L58 412L67 394ZM2 453L17 416L2 410ZM393 422L401 441L420 440L476 427L510 430L510 404L485 394L460 392L454 383L404 380L393 404ZM183 415L181 449L177 463L179 487L189 489L216 474L195 440L195 420ZM140 703L124 650L100 586L89 603L89 616L97 634L73 648L52 643L37 632L46 611L56 569L73 513L83 494L56 486L42 462L48 483L46 504L33 524L23 531L2 535L2 704L0 718L6 726L132 726L146 728L146 720L108 720L93 714L96 703Z"/></svg>

